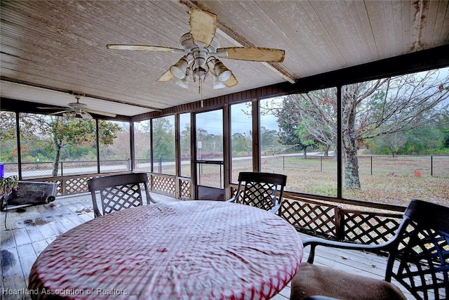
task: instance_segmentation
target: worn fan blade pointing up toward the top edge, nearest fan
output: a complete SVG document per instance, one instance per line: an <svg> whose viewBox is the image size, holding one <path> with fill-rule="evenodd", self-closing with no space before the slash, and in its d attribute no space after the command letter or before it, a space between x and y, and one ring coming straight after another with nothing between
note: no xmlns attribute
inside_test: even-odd
<svg viewBox="0 0 449 300"><path fill-rule="evenodd" d="M204 44L203 47L207 48L217 31L217 15L198 8L190 8L189 25L194 43L200 46L198 43L201 42Z"/></svg>

